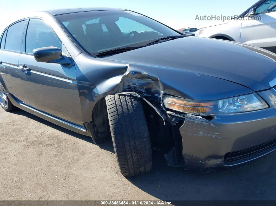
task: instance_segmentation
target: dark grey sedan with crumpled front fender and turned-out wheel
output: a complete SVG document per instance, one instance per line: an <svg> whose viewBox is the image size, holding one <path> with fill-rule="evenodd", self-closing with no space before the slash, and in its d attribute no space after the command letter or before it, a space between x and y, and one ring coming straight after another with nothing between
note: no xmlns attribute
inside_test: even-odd
<svg viewBox="0 0 276 206"><path fill-rule="evenodd" d="M1 107L95 144L112 139L124 176L150 171L152 148L169 166L200 172L276 150L276 55L267 50L108 8L35 13L8 26L0 47Z"/></svg>

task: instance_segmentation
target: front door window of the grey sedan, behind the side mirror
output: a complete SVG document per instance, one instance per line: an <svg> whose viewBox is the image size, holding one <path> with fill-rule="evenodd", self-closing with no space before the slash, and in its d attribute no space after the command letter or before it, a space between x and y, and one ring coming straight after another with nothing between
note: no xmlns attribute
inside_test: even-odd
<svg viewBox="0 0 276 206"><path fill-rule="evenodd" d="M26 53L34 49L55 46L61 49L61 42L52 28L40 19L30 19L26 34Z"/></svg>

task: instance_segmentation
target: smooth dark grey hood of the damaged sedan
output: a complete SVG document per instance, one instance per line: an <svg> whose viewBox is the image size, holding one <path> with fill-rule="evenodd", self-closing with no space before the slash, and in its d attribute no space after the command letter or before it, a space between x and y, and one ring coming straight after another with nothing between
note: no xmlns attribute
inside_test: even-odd
<svg viewBox="0 0 276 206"><path fill-rule="evenodd" d="M224 40L184 37L104 59L152 65L154 68L165 67L168 72L171 69L170 75L174 75L175 69L204 74L254 91L269 89L276 84L275 54L255 46ZM150 71L145 72L150 75Z"/></svg>

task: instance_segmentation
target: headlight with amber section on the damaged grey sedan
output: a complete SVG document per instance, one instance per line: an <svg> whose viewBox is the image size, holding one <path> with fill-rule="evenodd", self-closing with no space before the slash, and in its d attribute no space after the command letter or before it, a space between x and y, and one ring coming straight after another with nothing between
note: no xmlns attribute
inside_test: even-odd
<svg viewBox="0 0 276 206"><path fill-rule="evenodd" d="M269 107L256 93L213 101L189 100L164 95L163 103L168 109L201 116L249 112Z"/></svg>

